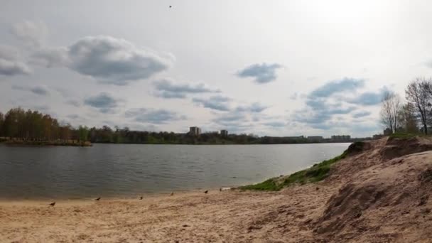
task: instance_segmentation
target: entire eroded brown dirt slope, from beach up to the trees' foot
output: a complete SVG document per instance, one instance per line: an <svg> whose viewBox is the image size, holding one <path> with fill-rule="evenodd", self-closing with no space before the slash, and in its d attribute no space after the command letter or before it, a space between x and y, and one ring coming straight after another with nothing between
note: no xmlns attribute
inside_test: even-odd
<svg viewBox="0 0 432 243"><path fill-rule="evenodd" d="M335 164L332 175L318 183L316 192L310 187L288 188L283 193L313 194L322 201L296 207L295 218L290 217L292 210L273 212L274 222L286 220L286 229L296 228L295 234L286 234L287 241L432 242L430 139L369 141L363 151ZM325 196L321 188L327 190ZM303 216L306 220L299 220Z"/></svg>

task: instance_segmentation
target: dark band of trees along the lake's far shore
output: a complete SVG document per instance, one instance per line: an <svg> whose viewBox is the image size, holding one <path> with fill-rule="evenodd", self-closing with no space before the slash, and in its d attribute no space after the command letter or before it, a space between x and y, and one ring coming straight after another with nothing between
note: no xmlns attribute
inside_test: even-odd
<svg viewBox="0 0 432 243"><path fill-rule="evenodd" d="M310 141L303 137L254 136L252 134L229 134L222 136L217 132L207 132L200 136L175 134L161 131L132 131L129 128L102 126L72 127L60 125L49 114L27 111L21 108L10 109L6 114L0 112L0 140L18 139L19 141L70 141L113 144L306 144Z"/></svg>

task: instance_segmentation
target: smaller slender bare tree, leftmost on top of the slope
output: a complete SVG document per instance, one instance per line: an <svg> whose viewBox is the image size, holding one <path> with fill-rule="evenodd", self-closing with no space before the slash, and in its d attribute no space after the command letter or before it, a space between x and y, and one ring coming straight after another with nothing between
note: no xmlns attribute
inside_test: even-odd
<svg viewBox="0 0 432 243"><path fill-rule="evenodd" d="M386 91L382 97L381 121L392 133L399 127L401 99L399 95Z"/></svg>

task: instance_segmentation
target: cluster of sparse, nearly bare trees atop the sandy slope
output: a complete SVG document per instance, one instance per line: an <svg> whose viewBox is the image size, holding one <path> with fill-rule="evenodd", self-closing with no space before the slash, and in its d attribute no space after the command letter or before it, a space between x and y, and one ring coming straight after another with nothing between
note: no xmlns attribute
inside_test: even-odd
<svg viewBox="0 0 432 243"><path fill-rule="evenodd" d="M394 92L384 92L381 121L388 134L430 134L432 126L432 79L416 78L405 90L406 102Z"/></svg>

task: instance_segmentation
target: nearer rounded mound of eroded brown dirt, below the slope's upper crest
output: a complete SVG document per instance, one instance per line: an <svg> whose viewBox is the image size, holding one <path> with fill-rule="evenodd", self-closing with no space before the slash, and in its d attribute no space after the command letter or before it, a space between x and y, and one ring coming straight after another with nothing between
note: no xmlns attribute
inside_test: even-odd
<svg viewBox="0 0 432 243"><path fill-rule="evenodd" d="M432 242L432 151L394 158L352 175L315 221L335 241Z"/></svg>

